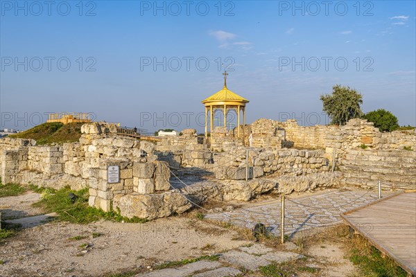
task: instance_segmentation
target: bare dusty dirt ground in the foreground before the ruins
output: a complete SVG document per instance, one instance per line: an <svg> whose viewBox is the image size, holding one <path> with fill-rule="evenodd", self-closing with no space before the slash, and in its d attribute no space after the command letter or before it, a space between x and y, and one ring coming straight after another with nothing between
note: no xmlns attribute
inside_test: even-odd
<svg viewBox="0 0 416 277"><path fill-rule="evenodd" d="M41 211L31 206L38 199L35 193L0 198L1 209L6 209L3 215L38 215ZM14 210L19 213L9 212ZM77 236L79 240L74 239ZM308 266L321 271L300 276L351 276L354 266L344 258L342 242L311 241L302 253L308 257ZM148 271L164 261L220 253L250 242L236 230L190 216L144 224L50 222L23 229L0 244L0 276L110 276Z"/></svg>

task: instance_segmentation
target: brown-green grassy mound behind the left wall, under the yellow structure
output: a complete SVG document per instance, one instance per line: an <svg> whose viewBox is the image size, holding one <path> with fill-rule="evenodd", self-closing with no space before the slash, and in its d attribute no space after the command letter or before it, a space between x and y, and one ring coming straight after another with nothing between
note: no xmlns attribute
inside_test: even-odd
<svg viewBox="0 0 416 277"><path fill-rule="evenodd" d="M81 126L84 123L43 123L19 134L12 134L10 138L34 139L38 145L51 143L72 143L81 136Z"/></svg>

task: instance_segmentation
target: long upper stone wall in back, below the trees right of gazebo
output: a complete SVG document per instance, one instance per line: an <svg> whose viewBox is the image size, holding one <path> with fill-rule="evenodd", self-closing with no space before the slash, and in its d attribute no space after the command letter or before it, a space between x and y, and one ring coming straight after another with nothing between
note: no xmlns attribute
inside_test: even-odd
<svg viewBox="0 0 416 277"><path fill-rule="evenodd" d="M261 118L252 123L251 128L258 129L257 126L261 126L257 136L263 140L272 138L273 132L281 130L281 148L324 149L330 161L333 148L338 157L342 157L346 150L360 148L361 145L370 149L401 150L409 147L416 150L415 130L383 133L373 123L359 118L349 120L343 126L300 126L296 120L279 122ZM253 146L257 146L254 145L254 134L253 131Z"/></svg>

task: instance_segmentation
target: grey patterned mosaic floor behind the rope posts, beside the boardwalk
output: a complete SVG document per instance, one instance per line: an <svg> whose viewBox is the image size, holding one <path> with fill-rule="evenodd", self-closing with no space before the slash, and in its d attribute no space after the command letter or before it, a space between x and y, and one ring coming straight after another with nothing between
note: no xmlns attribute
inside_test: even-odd
<svg viewBox="0 0 416 277"><path fill-rule="evenodd" d="M340 222L340 213L363 206L377 199L376 193L367 190L333 191L312 195L302 199L286 198L285 234L291 235L314 227L331 226ZM211 213L209 220L220 220L253 229L261 222L274 235L280 233L280 200L256 204L250 208L237 208L234 211Z"/></svg>

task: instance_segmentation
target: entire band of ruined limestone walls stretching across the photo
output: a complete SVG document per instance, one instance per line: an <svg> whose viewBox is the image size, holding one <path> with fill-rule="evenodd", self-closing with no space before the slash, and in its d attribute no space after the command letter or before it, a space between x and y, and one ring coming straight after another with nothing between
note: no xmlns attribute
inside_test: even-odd
<svg viewBox="0 0 416 277"><path fill-rule="evenodd" d="M245 139L225 127L216 127L208 141L185 129L157 145L119 136L107 123L88 123L81 131L78 142L62 145L1 139L1 180L89 188L90 206L146 219L183 213L207 199L248 201L338 184L374 188L379 181L383 188L416 188L414 130L381 133L366 120L303 127L262 118L245 126ZM108 177L110 166L119 169L116 181ZM216 178L177 190L170 183L176 171Z"/></svg>

